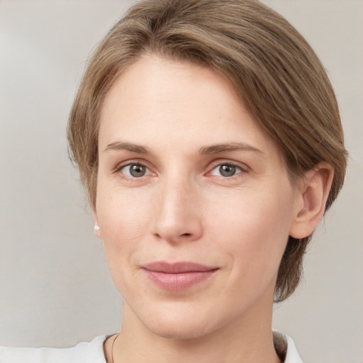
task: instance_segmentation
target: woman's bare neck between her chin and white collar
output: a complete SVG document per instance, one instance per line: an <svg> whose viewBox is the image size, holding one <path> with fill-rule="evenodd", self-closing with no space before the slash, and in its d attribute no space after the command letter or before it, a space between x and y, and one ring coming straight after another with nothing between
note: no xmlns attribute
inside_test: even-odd
<svg viewBox="0 0 363 363"><path fill-rule="evenodd" d="M251 312L250 316L202 337L174 339L145 328L125 304L122 329L113 345L113 363L281 363L274 350L272 308L268 315L256 317Z"/></svg>

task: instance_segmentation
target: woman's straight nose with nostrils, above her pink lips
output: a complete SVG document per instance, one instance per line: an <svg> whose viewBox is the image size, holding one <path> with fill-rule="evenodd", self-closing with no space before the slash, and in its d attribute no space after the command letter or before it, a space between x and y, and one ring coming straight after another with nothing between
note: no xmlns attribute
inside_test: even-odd
<svg viewBox="0 0 363 363"><path fill-rule="evenodd" d="M169 243L194 241L203 235L197 186L187 180L169 180L157 190L152 234Z"/></svg>

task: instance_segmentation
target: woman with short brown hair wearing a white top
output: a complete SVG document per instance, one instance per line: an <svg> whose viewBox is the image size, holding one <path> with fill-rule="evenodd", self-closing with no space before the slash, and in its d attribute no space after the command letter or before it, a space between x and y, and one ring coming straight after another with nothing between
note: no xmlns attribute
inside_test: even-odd
<svg viewBox="0 0 363 363"><path fill-rule="evenodd" d="M139 1L89 62L68 139L122 328L4 362L301 362L272 304L298 285L346 152L325 70L284 18Z"/></svg>

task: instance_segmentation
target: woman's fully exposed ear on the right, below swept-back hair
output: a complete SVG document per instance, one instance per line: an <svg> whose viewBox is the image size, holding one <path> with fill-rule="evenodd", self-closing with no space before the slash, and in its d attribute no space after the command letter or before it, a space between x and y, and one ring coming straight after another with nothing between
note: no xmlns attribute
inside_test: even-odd
<svg viewBox="0 0 363 363"><path fill-rule="evenodd" d="M301 239L313 233L323 218L333 176L333 168L325 162L306 172L297 192L298 203L291 223L291 237Z"/></svg>

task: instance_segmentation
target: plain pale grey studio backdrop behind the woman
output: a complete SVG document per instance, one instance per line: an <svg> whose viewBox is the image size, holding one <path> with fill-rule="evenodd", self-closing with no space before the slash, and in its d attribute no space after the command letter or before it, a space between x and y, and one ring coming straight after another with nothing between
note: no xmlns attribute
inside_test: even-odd
<svg viewBox="0 0 363 363"><path fill-rule="evenodd" d="M0 0L0 345L69 347L120 326L65 128L90 50L131 2ZM345 187L274 328L304 362L362 363L363 1L264 2L328 69L350 152Z"/></svg>

